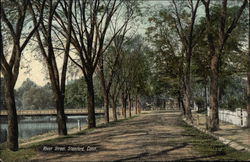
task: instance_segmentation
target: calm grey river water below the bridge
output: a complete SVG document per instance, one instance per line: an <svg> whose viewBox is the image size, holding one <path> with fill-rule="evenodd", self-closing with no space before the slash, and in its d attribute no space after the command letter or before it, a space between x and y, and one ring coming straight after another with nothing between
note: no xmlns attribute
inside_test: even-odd
<svg viewBox="0 0 250 162"><path fill-rule="evenodd" d="M99 117L101 116L97 116L97 118ZM80 122L81 127L85 126L87 116L67 116L67 129L77 128L78 122ZM7 139L7 128L7 118L0 117L0 143ZM19 139L28 139L52 130L57 130L55 116L19 117L18 119Z"/></svg>

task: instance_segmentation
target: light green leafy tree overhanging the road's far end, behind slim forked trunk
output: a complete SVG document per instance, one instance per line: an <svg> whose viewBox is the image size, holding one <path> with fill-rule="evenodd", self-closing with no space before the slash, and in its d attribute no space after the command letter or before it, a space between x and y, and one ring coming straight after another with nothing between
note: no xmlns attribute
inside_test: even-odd
<svg viewBox="0 0 250 162"><path fill-rule="evenodd" d="M179 43L175 19L170 10L161 8L148 18L147 40L152 45L149 51L152 75L151 96L172 96L178 99L185 114L183 102L184 47Z"/></svg>

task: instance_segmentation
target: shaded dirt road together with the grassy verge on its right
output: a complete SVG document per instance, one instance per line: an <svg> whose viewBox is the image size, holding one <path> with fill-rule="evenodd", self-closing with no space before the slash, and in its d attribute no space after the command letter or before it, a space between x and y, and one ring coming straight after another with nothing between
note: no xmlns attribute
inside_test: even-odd
<svg viewBox="0 0 250 162"><path fill-rule="evenodd" d="M55 142L55 141L54 141ZM39 161L247 160L208 135L187 126L179 112L150 112L139 117L71 135L57 145L96 147L90 152L42 152ZM39 146L42 148L42 146ZM239 158L240 157L240 158Z"/></svg>

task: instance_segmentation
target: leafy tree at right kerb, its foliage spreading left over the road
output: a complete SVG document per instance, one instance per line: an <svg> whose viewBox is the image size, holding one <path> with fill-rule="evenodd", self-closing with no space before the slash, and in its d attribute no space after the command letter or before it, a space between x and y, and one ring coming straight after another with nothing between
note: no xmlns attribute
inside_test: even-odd
<svg viewBox="0 0 250 162"><path fill-rule="evenodd" d="M158 65L165 64L165 66L159 66L160 69L157 71L165 71L166 75L177 74L174 74L177 77L171 77L172 79L178 78L179 82L179 92L175 94L179 94L178 100L184 103L184 114L189 120L192 120L191 60L194 48L204 31L204 28L200 28L202 26L197 25L199 6L200 0L195 2L172 0L172 4L167 9L161 8L149 18L149 21L154 24L147 31L147 34L150 35L150 42L154 44L159 55L163 55L156 61ZM174 60L178 60L178 64L173 68L166 68ZM166 70L162 68L166 68Z"/></svg>

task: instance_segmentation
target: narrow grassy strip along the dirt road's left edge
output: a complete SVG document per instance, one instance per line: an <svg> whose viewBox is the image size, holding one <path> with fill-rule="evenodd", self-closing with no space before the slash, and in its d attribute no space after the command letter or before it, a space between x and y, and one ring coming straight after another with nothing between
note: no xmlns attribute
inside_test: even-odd
<svg viewBox="0 0 250 162"><path fill-rule="evenodd" d="M138 117L138 115L135 115L131 118L126 118L126 119L121 119L116 122L111 121L110 123L101 123L97 125L97 128L105 128L105 127L113 127L116 126L119 123L125 122L127 120L133 119L135 117ZM9 149L7 149L6 143L0 144L0 159L3 160L4 162L9 162L9 161L27 161L31 159L32 157L36 156L38 153L38 148L41 145L51 145L51 144L56 144L58 142L62 142L65 139L68 138L76 138L77 136L87 134L88 132L91 132L95 130L96 128L91 128L91 129L84 129L82 131L79 131L77 133L68 135L68 136L60 136L54 139L48 139L45 141L37 142L37 143L32 143L26 146L22 146L19 148L18 151L12 152Z"/></svg>

